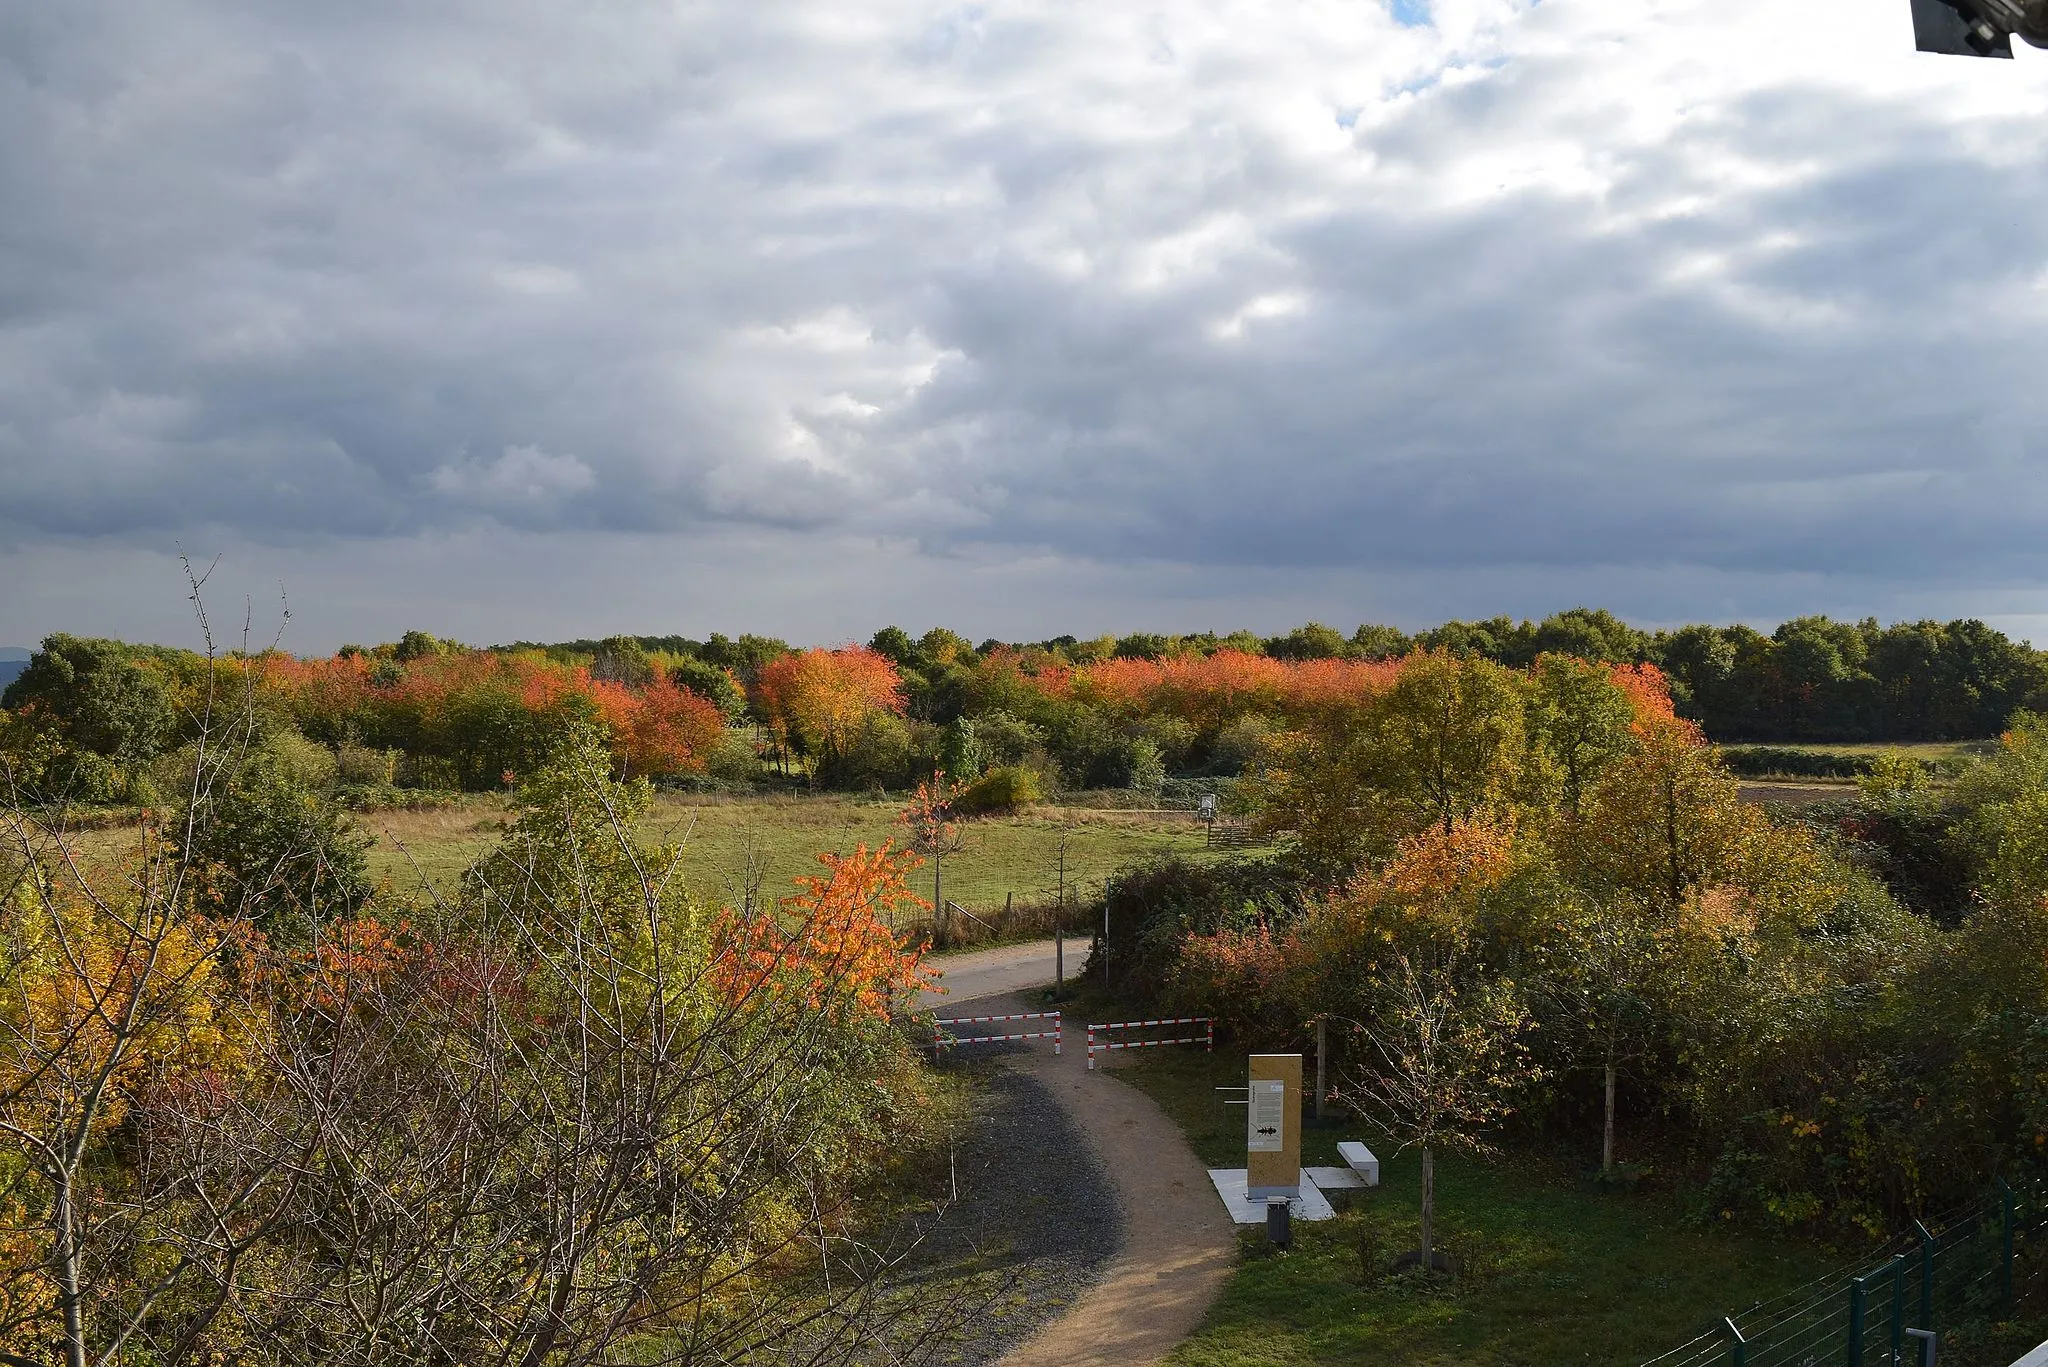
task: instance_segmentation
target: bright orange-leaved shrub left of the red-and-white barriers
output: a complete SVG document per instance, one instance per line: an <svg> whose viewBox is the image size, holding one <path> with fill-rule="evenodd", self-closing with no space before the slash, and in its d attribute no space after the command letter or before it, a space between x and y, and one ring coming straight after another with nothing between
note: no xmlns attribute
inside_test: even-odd
<svg viewBox="0 0 2048 1367"><path fill-rule="evenodd" d="M905 881L920 861L887 842L852 855L819 855L825 873L797 879L780 916L743 918L725 912L715 943L717 982L729 1000L793 988L813 1006L887 1019L909 994L936 978L924 951L895 933L899 910L924 910Z"/></svg>

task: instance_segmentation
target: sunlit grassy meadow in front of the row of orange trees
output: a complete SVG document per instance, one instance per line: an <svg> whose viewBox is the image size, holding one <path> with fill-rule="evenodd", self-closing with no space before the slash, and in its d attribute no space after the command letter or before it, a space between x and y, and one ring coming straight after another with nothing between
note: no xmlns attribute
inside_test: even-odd
<svg viewBox="0 0 2048 1367"><path fill-rule="evenodd" d="M768 797L702 799L662 795L641 834L682 846L682 863L694 889L707 898L729 898L756 871L766 896L791 892L791 879L815 873L821 853L846 855L856 846L903 842L897 824L901 801L868 797ZM393 887L418 887L424 875L449 889L498 838L508 820L502 799L465 799L434 812L373 812L360 818L377 836L371 869ZM979 818L961 824L965 848L944 861L948 902L969 910L999 908L1006 896L1018 902L1051 902L1059 885L1059 840L1067 840L1067 883L1083 896L1135 859L1188 855L1206 859L1202 826L1188 816L1102 812L1087 807L1038 807L1018 816ZM932 896L926 865L911 885Z"/></svg>

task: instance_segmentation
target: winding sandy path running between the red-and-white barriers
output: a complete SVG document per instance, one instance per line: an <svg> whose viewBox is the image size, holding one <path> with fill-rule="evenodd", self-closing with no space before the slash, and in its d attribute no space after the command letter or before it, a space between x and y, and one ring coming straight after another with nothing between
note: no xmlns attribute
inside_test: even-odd
<svg viewBox="0 0 2048 1367"><path fill-rule="evenodd" d="M1079 971L1073 949L1069 974ZM948 992L928 1004L942 1017L1040 1010L1016 992L1053 982L1053 941L934 963ZM1116 1185L1124 1238L1102 1281L999 1367L1149 1367L1200 1324L1223 1289L1237 1230L1174 1121L1137 1088L1087 1072L1085 1021L1063 1025L1063 1055L1038 1043L1004 1055L1004 1066L1036 1078L1081 1131Z"/></svg>

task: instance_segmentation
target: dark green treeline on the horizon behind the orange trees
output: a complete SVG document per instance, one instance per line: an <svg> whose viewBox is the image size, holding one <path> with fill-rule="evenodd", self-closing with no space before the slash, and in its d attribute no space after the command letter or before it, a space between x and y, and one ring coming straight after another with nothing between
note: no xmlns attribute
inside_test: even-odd
<svg viewBox="0 0 2048 1367"><path fill-rule="evenodd" d="M731 639L717 633L707 641L641 635L547 646L522 641L496 650L541 650L561 660L596 660L621 639L631 639L645 652L692 656L741 678L788 652L784 641L772 637ZM967 711L973 660L1006 650L1075 666L1112 658L1212 656L1225 650L1272 660L1391 660L1417 650L1444 650L1509 668L1528 668L1542 654L1655 664L1671 680L1679 715L1698 721L1722 744L1989 740L2013 711L2048 707L2048 652L2013 641L1974 619L1882 627L1874 617L1855 623L1798 617L1769 633L1741 625L1638 631L1608 611L1571 609L1542 621L1446 621L1413 635L1382 625L1364 625L1343 635L1335 627L1309 623L1272 637L1251 631L1141 631L1092 639L985 639L969 646L967 637L944 629L911 637L885 627L868 646L901 672L907 713L940 726Z"/></svg>

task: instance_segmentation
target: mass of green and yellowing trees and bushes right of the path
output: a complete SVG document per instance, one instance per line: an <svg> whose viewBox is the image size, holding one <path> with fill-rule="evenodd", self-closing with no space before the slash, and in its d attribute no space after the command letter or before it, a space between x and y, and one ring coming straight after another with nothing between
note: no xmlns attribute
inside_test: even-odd
<svg viewBox="0 0 2048 1367"><path fill-rule="evenodd" d="M1651 676L1436 656L1272 756L1290 855L1112 879L1120 988L1253 1045L1333 1019L1366 1074L1403 1010L1489 1002L1509 1133L1677 1164L1716 1217L1890 1230L2042 1152L2048 721L1772 820Z"/></svg>

